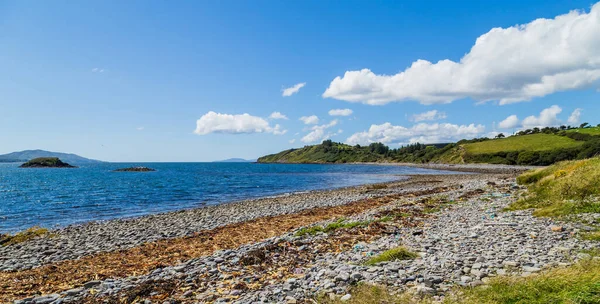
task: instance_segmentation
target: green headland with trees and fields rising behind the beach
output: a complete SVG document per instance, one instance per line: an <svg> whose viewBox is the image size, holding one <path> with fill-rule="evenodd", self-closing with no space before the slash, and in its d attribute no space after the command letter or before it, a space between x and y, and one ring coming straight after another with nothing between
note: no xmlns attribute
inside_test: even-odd
<svg viewBox="0 0 600 304"><path fill-rule="evenodd" d="M319 145L285 150L259 163L491 163L549 165L600 155L600 127L533 128L497 138L475 138L450 144L411 144L390 149L382 143L349 146L326 140Z"/></svg>

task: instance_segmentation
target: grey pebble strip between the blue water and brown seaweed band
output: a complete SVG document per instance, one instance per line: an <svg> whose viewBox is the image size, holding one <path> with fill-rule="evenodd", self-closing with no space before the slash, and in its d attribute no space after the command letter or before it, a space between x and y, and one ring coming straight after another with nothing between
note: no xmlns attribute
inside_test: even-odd
<svg viewBox="0 0 600 304"><path fill-rule="evenodd" d="M403 190L441 183L444 178L465 174L412 175L407 179L384 183ZM128 249L143 243L193 235L198 231L243 223L265 216L295 214L319 207L345 205L381 194L369 191L371 185L330 190L312 190L279 197L263 197L193 209L93 221L50 230L52 237L29 240L17 246L0 246L0 272L31 269L82 256ZM93 240L92 244L88 240ZM52 248L52 249L44 249Z"/></svg>

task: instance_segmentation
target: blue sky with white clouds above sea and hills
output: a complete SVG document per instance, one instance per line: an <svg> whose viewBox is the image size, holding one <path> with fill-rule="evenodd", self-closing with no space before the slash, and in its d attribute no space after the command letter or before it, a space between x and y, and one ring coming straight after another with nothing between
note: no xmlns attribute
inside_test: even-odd
<svg viewBox="0 0 600 304"><path fill-rule="evenodd" d="M0 153L211 161L327 137L445 142L566 124L576 109L572 122L598 124L593 4L1 1Z"/></svg>

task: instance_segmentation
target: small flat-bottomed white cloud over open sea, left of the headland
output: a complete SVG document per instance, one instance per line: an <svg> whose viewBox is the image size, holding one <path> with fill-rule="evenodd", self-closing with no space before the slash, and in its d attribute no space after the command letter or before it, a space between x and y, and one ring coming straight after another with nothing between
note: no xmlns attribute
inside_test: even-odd
<svg viewBox="0 0 600 304"><path fill-rule="evenodd" d="M287 130L282 130L280 125L271 127L269 123L257 116L250 114L231 115L221 114L210 111L198 121L196 121L196 130L194 133L198 135L206 135L209 133L228 133L228 134L243 134L243 133L272 133L275 135L285 134Z"/></svg>

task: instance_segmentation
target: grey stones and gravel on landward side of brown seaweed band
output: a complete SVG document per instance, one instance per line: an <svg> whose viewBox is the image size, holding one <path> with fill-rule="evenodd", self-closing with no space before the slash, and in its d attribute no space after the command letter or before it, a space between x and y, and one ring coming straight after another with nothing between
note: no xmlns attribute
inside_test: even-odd
<svg viewBox="0 0 600 304"><path fill-rule="evenodd" d="M575 233L580 231L576 223L533 217L531 210L503 212L525 191L514 183L514 178L478 175L452 179L460 187L444 193L444 198L459 203L444 205L434 215L410 218L415 225L386 223L376 229L377 235L368 234L369 226L361 236L333 232L299 237L290 232L181 265L158 268L146 275L100 284L89 282L83 288L61 293L60 298L65 303L92 297L109 300L142 286L169 282L177 288L173 288L168 299L186 303L296 303L316 295L348 301L349 287L366 282L441 300L455 285L483 285L501 275L529 276L591 258L581 251L599 245L576 238ZM394 190L382 190L386 191ZM397 208L421 210L423 206L418 202L422 199L398 200L347 220L375 219L381 212ZM595 215L585 217L598 219ZM351 236L364 240L344 238ZM338 250L343 242L350 243L346 249ZM408 247L419 257L364 265L370 256L398 246ZM261 255L265 262L245 263L245 258L253 254ZM150 301L152 295L145 297ZM39 302L35 298L23 303Z"/></svg>

